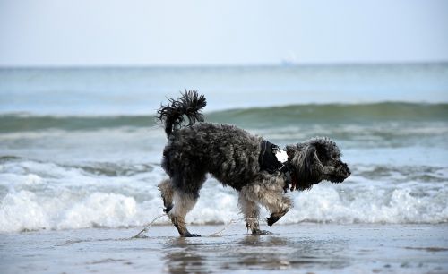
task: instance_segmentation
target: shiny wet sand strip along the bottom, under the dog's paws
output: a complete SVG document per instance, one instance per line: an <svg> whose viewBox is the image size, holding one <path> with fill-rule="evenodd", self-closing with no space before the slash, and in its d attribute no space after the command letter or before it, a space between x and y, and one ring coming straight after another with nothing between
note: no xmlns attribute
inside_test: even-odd
<svg viewBox="0 0 448 274"><path fill-rule="evenodd" d="M270 227L243 224L92 228L0 234L1 273L448 273L448 224ZM264 229L266 227L263 227Z"/></svg>

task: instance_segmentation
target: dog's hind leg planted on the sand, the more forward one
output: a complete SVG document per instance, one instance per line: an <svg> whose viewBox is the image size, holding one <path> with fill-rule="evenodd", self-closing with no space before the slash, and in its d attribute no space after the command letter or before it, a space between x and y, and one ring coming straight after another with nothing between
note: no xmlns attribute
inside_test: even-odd
<svg viewBox="0 0 448 274"><path fill-rule="evenodd" d="M177 228L179 235L183 237L198 237L201 235L191 234L185 225L185 216L196 204L197 193L185 193L175 190L174 192L174 206L168 211L168 216L173 225Z"/></svg>

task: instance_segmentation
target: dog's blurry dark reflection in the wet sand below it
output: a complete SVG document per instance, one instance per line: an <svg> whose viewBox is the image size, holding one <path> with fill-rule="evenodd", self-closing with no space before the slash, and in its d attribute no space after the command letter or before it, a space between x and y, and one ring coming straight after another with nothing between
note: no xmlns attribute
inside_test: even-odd
<svg viewBox="0 0 448 274"><path fill-rule="evenodd" d="M235 241L220 238L170 239L164 246L165 270L169 273L219 270L286 270L312 265L342 269L349 265L344 256L348 241L309 240L289 237L246 235Z"/></svg>

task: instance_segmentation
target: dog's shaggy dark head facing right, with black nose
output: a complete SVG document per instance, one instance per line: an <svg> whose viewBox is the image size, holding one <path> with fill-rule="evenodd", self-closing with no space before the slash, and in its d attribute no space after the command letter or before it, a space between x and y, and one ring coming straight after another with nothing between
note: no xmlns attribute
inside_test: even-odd
<svg viewBox="0 0 448 274"><path fill-rule="evenodd" d="M310 189L323 180L342 183L349 175L347 164L340 160L336 143L326 137L287 146L289 163L297 178L297 189Z"/></svg>

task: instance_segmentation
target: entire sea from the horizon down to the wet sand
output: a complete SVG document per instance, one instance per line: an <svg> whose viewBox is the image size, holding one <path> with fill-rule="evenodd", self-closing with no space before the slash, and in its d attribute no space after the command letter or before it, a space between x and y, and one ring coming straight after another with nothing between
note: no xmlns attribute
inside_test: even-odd
<svg viewBox="0 0 448 274"><path fill-rule="evenodd" d="M282 147L339 145L352 175L289 193L280 224L448 222L448 64L3 68L0 232L159 216L167 140L154 115L185 89L206 96L208 122ZM210 177L187 221L240 218L237 192Z"/></svg>

